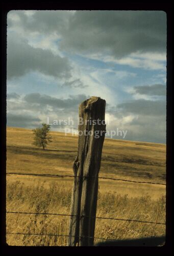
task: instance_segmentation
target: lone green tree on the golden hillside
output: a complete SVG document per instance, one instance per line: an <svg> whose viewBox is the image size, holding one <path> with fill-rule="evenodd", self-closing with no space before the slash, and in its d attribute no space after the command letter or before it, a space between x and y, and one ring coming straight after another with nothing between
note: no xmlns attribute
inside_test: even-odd
<svg viewBox="0 0 174 256"><path fill-rule="evenodd" d="M43 150L45 149L48 142L52 142L52 136L49 135L50 125L46 123L42 123L41 128L33 129L34 134L34 142L33 145L42 147Z"/></svg>

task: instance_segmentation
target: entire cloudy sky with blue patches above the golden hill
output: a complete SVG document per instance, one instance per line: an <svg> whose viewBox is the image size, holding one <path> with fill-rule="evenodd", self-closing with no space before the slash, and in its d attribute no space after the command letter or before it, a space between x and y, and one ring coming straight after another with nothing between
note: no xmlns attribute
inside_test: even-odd
<svg viewBox="0 0 174 256"><path fill-rule="evenodd" d="M77 129L79 103L99 96L107 130L166 142L165 12L10 11L7 24L8 126Z"/></svg>

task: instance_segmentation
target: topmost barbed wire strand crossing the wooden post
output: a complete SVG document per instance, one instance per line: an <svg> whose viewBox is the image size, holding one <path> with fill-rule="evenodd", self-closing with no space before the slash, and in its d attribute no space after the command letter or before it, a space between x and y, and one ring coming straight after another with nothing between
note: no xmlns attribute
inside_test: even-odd
<svg viewBox="0 0 174 256"><path fill-rule="evenodd" d="M108 177L95 177L95 176L73 176L73 175L59 175L59 174L22 174L22 173L7 173L10 175L31 175L31 176L45 176L45 177L70 177L70 178L97 178L97 179L106 179L106 180L116 180L116 181L126 181L126 182L134 182L134 183L147 183L147 184L154 184L154 185L164 185L164 183L156 183L156 182L150 182L150 181L135 181L135 180L124 180L124 179L115 179L115 178L108 178Z"/></svg>

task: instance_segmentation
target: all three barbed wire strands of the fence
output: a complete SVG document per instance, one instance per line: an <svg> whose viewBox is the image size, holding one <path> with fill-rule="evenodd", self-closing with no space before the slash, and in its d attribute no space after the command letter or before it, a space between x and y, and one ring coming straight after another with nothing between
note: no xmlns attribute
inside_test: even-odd
<svg viewBox="0 0 174 256"><path fill-rule="evenodd" d="M106 179L106 180L115 180L115 181L124 181L124 182L134 182L134 183L147 183L147 184L154 184L154 185L166 185L164 183L155 183L155 182L148 182L148 181L133 181L133 180L125 180L125 179L116 179L116 178L109 178L109 177L94 177L94 176L73 176L73 175L58 175L58 174L31 174L31 173L7 173L7 175L30 175L30 176L45 176L45 177L70 177L70 178L97 178L97 179ZM166 225L166 223L161 222L153 222L153 221L143 221L143 220L132 220L132 219L122 219L122 218L109 218L109 217L97 217L97 216L78 216L78 215L70 215L70 214L55 214L50 212L22 212L22 211L6 211L6 214L27 214L27 215L51 215L51 216L68 216L68 217L81 217L81 218L95 218L95 219L103 219L103 220L114 220L114 221L128 221L128 222L141 222L141 223L148 223L148 224L155 224L155 225ZM27 236L55 236L55 237L75 237L69 236L69 234L40 234L40 233L23 233L23 232L6 232L7 234L20 234L20 235L27 235ZM77 237L77 236L76 236ZM82 237L78 236L78 238L91 238L91 239L101 239L101 240L109 240L115 241L114 239L108 238L98 238L98 237Z"/></svg>

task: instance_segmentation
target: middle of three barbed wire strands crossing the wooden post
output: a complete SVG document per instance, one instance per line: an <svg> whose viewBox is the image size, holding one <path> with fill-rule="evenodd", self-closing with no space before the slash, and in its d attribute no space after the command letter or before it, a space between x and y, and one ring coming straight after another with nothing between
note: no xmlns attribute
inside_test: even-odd
<svg viewBox="0 0 174 256"><path fill-rule="evenodd" d="M104 220L120 220L120 221L134 221L134 222L143 222L143 223L151 223L151 224L159 224L159 225L166 225L165 223L161 222L153 222L153 221L138 221L138 220L131 220L131 219L119 219L119 218L109 218L109 217L95 217L95 216L86 216L86 215L70 215L70 214L51 214L47 212L22 212L22 211L6 211L7 214L35 214L35 215L57 215L57 216L71 216L71 217L87 217L87 218L95 218L95 219L104 219Z"/></svg>

